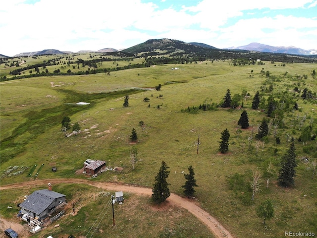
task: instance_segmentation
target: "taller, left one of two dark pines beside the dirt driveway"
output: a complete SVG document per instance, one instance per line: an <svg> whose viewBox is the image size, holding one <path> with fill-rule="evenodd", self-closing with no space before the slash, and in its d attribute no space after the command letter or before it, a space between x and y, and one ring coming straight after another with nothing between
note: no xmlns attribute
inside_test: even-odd
<svg viewBox="0 0 317 238"><path fill-rule="evenodd" d="M165 161L162 161L152 188L152 199L157 203L165 201L170 195L168 188L169 183L166 181L170 171L167 171L167 169L169 169L169 167L167 167Z"/></svg>

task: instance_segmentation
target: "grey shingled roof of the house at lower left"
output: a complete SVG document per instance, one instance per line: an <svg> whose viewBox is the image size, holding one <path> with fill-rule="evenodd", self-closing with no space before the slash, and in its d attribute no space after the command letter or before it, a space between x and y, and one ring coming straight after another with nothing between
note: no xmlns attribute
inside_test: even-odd
<svg viewBox="0 0 317 238"><path fill-rule="evenodd" d="M51 191L49 189L42 189L33 192L28 198L19 206L32 211L36 214L41 214L47 209L56 198L65 197L66 195Z"/></svg>

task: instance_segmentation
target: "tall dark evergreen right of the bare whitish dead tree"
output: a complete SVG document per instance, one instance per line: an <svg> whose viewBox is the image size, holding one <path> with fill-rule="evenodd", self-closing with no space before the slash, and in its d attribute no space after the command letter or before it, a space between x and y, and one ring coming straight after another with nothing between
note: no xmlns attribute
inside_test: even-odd
<svg viewBox="0 0 317 238"><path fill-rule="evenodd" d="M296 154L294 142L291 142L288 151L281 159L281 168L279 169L278 183L281 186L287 187L294 185Z"/></svg>

